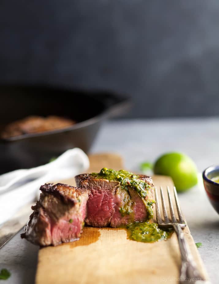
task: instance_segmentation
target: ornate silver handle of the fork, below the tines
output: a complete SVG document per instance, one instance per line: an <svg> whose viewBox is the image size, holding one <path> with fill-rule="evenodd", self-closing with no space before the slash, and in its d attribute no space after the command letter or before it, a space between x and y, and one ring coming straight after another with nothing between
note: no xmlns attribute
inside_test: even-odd
<svg viewBox="0 0 219 284"><path fill-rule="evenodd" d="M181 252L181 272L180 272L180 283L208 283L209 281L204 280L202 275L199 273L198 268L194 262L192 257L190 248L187 244L187 241L184 237L182 228L178 223L173 225L174 230L176 231L178 241L179 241L179 249Z"/></svg>

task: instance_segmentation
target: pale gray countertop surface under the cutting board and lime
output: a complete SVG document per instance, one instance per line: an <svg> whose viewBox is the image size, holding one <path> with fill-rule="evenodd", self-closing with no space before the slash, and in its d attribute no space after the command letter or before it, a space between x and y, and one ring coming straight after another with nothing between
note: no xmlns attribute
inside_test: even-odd
<svg viewBox="0 0 219 284"><path fill-rule="evenodd" d="M219 119L122 120L106 123L91 152L117 152L125 167L139 171L143 161L160 154L180 151L194 159L198 171L219 164ZM202 242L200 255L213 284L218 283L219 215L204 192L201 175L198 186L179 194L183 213L195 242ZM6 284L34 283L38 247L21 240L20 233L0 250L0 269L12 276ZM3 281L2 281L3 282Z"/></svg>

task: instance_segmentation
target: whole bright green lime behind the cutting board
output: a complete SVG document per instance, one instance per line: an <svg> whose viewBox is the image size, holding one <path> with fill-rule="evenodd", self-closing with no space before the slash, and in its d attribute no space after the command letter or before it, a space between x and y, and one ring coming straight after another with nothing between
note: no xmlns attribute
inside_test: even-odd
<svg viewBox="0 0 219 284"><path fill-rule="evenodd" d="M177 191L188 190L198 182L195 163L182 153L162 155L154 164L154 173L172 177Z"/></svg>

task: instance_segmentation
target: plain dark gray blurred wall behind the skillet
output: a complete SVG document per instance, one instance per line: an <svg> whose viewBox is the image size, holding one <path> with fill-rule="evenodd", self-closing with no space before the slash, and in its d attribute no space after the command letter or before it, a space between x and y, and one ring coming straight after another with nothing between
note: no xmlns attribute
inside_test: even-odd
<svg viewBox="0 0 219 284"><path fill-rule="evenodd" d="M129 117L218 115L217 0L0 1L0 82L108 89Z"/></svg>

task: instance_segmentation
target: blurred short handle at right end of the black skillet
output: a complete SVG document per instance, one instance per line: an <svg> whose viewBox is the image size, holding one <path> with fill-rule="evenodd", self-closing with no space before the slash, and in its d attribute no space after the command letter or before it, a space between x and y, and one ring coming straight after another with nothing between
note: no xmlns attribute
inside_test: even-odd
<svg viewBox="0 0 219 284"><path fill-rule="evenodd" d="M93 97L98 101L104 103L105 109L101 114L104 118L116 117L131 108L130 98L120 97L115 94L106 93L106 94L93 94Z"/></svg>

